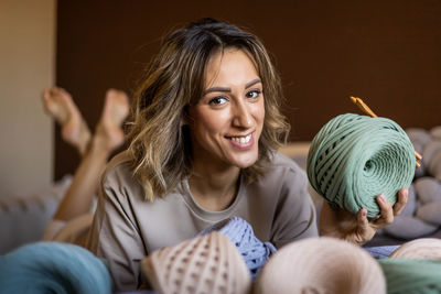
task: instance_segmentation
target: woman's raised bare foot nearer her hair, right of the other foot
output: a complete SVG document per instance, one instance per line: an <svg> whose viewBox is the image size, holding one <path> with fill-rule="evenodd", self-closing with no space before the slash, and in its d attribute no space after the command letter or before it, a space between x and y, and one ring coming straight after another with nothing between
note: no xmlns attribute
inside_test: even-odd
<svg viewBox="0 0 441 294"><path fill-rule="evenodd" d="M106 101L101 118L96 127L94 143L100 148L114 151L120 146L123 141L121 124L129 113L129 99L126 92L109 89L106 92Z"/></svg>

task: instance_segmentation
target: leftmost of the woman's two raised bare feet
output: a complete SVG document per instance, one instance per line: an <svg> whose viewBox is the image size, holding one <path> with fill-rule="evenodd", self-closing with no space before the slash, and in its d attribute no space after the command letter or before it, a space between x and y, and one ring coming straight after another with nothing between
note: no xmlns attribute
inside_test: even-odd
<svg viewBox="0 0 441 294"><path fill-rule="evenodd" d="M42 94L46 113L62 128L62 138L84 155L90 141L90 131L71 95L62 88L44 89Z"/></svg>

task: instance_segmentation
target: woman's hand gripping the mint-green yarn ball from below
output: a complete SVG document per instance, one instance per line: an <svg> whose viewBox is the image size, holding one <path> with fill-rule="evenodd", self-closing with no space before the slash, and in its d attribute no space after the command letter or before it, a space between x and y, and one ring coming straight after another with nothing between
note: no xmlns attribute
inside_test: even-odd
<svg viewBox="0 0 441 294"><path fill-rule="evenodd" d="M378 229L394 221L394 216L401 213L407 199L407 188L398 192L398 200L394 207L383 194L378 195L376 200L380 207L380 215L374 219L366 217L366 208L362 208L357 215L353 215L344 209L332 209L326 202L323 202L319 224L320 235L364 244L374 237Z"/></svg>

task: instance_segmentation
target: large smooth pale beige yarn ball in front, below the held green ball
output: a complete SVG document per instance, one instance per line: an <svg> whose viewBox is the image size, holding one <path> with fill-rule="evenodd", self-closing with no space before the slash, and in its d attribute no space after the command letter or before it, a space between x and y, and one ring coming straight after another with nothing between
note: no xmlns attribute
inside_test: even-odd
<svg viewBox="0 0 441 294"><path fill-rule="evenodd" d="M362 248L333 238L310 238L282 247L262 268L255 294L386 293L378 263Z"/></svg>

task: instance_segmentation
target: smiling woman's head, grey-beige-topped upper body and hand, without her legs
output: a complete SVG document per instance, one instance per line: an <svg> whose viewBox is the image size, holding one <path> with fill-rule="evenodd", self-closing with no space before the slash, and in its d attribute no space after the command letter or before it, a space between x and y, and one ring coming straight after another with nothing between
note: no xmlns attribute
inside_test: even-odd
<svg viewBox="0 0 441 294"><path fill-rule="evenodd" d="M139 262L232 216L277 248L318 236L305 174L276 150L289 126L278 74L252 34L212 19L173 32L135 97L129 149L108 164L88 248L117 290L140 285ZM391 222L325 205L321 232L363 243Z"/></svg>

